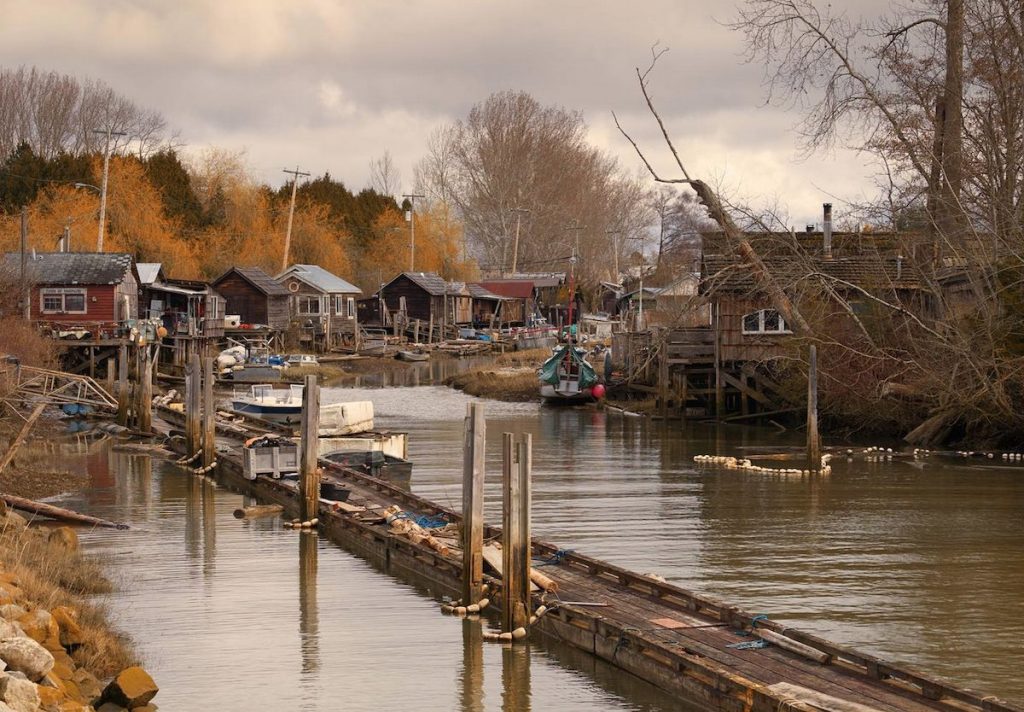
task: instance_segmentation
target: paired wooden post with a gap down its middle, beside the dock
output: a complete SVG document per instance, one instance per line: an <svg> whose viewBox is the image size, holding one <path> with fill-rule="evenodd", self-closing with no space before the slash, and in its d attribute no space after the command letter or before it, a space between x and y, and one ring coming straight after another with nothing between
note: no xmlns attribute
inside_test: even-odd
<svg viewBox="0 0 1024 712"><path fill-rule="evenodd" d="M530 436L503 439L502 621L512 632L529 623L529 467Z"/></svg>

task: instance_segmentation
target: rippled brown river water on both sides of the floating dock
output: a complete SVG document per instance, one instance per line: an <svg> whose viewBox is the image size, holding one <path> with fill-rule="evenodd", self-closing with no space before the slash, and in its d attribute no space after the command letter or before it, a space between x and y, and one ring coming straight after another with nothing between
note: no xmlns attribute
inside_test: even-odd
<svg viewBox="0 0 1024 712"><path fill-rule="evenodd" d="M373 400L378 427L410 433L414 491L458 507L471 399L431 385L323 399ZM529 432L536 536L1024 703L1021 467L858 458L778 477L692 457L782 451L799 435L535 404L485 412L488 519L501 433ZM163 710L679 709L569 650L483 645L480 624L315 535L236 520L241 496L169 463L81 436L51 448L90 474L67 506L133 525L82 538L121 579L113 610Z"/></svg>

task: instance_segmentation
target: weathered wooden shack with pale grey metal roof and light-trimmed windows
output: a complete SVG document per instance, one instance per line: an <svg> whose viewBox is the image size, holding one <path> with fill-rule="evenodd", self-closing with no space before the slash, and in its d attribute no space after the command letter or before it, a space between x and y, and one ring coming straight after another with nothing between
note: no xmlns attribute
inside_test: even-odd
<svg viewBox="0 0 1024 712"><path fill-rule="evenodd" d="M290 294L292 327L305 345L319 351L355 345L358 287L316 264L293 264L274 280Z"/></svg>

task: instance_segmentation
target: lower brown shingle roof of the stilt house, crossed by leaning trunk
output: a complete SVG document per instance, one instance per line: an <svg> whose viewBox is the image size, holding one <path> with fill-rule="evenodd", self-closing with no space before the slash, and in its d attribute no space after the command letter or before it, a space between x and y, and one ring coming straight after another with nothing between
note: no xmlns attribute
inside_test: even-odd
<svg viewBox="0 0 1024 712"><path fill-rule="evenodd" d="M767 258L765 266L784 288L817 276L848 282L863 289L921 289L921 275L906 259L858 255L803 260ZM751 292L758 288L751 264L724 255L705 255L700 292Z"/></svg>

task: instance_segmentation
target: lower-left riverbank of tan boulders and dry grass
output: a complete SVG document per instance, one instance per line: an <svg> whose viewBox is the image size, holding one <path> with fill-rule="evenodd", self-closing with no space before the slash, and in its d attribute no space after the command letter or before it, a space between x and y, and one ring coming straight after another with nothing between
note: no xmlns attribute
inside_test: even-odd
<svg viewBox="0 0 1024 712"><path fill-rule="evenodd" d="M2 709L156 709L148 703L159 688L96 602L112 590L102 561L79 551L73 529L30 528L0 503Z"/></svg>

